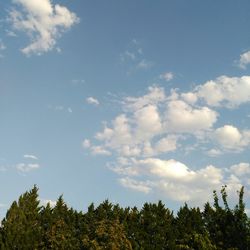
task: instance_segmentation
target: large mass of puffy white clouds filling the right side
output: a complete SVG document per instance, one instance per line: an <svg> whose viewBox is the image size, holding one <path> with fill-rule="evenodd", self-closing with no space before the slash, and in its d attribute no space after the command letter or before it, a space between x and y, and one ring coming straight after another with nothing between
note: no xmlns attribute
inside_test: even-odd
<svg viewBox="0 0 250 250"><path fill-rule="evenodd" d="M227 184L229 192L248 185L249 163L192 169L176 160L177 152L195 149L204 157L219 157L245 150L250 145L249 129L216 124L222 110L248 103L249 94L248 76L221 76L190 92L151 86L142 96L125 97L122 112L83 146L94 155L115 157L108 167L119 175L123 187L176 201L204 202L222 185Z"/></svg>

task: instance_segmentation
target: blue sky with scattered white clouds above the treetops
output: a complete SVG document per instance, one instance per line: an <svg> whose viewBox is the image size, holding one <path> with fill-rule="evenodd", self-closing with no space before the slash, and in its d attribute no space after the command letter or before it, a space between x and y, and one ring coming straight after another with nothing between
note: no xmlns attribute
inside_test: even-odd
<svg viewBox="0 0 250 250"><path fill-rule="evenodd" d="M0 216L39 187L176 211L250 196L250 2L0 2ZM247 208L250 204L246 203Z"/></svg>

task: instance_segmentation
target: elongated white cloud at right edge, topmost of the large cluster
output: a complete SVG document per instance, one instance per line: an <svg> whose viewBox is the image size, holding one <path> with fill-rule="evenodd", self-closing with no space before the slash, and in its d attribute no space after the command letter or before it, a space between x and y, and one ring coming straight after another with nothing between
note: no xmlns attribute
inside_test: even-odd
<svg viewBox="0 0 250 250"><path fill-rule="evenodd" d="M197 86L195 91L210 106L237 107L250 102L250 76L221 76Z"/></svg>

